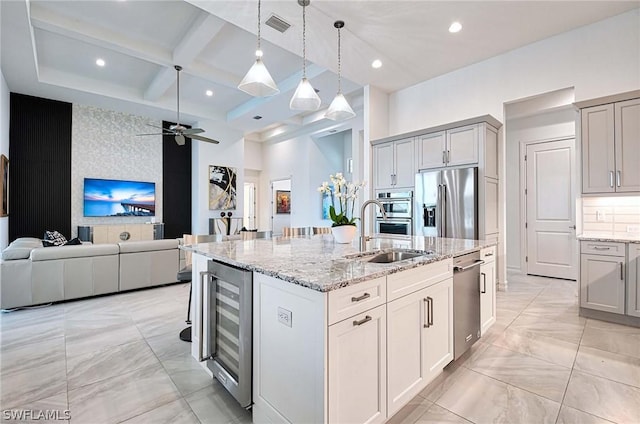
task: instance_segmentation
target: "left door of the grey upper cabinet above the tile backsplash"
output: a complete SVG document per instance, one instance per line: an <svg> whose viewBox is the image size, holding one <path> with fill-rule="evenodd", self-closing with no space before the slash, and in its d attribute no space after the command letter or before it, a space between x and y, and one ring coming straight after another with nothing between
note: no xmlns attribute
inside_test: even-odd
<svg viewBox="0 0 640 424"><path fill-rule="evenodd" d="M584 108L582 116L582 192L614 192L613 104Z"/></svg>

